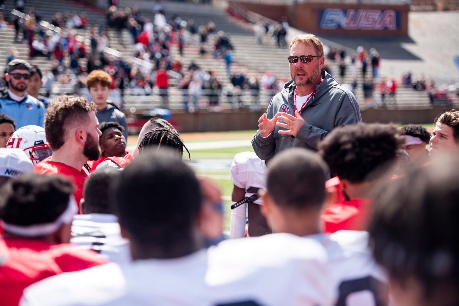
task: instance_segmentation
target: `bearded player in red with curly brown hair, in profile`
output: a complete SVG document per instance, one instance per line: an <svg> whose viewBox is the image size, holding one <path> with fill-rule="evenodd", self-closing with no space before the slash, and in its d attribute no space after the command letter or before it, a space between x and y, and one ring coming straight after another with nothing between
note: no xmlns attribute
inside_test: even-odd
<svg viewBox="0 0 459 306"><path fill-rule="evenodd" d="M40 174L62 174L76 185L75 200L83 198L83 184L90 176L86 162L99 156L99 122L96 107L83 97L62 95L48 107L45 133L53 155L35 165Z"/></svg>

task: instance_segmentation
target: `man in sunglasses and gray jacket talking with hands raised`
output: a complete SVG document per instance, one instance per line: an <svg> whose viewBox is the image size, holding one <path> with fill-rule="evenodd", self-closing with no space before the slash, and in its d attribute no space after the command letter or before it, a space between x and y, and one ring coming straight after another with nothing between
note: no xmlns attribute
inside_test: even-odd
<svg viewBox="0 0 459 306"><path fill-rule="evenodd" d="M252 139L253 150L262 160L292 147L317 151L320 140L333 128L362 122L353 93L320 71L324 45L313 34L292 39L288 61L291 81L271 99Z"/></svg>

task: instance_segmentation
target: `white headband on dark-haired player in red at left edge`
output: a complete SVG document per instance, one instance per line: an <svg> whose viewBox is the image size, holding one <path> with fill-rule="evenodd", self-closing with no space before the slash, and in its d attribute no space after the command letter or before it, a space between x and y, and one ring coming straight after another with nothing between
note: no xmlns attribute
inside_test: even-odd
<svg viewBox="0 0 459 306"><path fill-rule="evenodd" d="M75 201L75 197L73 195L70 195L66 210L62 212L62 214L54 222L22 226L5 223L3 220L0 220L0 225L5 231L18 236L45 236L56 232L56 230L59 229L62 226L62 224L71 223L73 221L73 216L77 212L78 208L77 202Z"/></svg>

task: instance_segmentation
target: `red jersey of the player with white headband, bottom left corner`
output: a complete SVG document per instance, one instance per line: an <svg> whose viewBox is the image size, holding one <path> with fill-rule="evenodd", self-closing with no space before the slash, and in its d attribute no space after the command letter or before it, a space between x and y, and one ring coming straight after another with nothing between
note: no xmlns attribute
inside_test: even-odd
<svg viewBox="0 0 459 306"><path fill-rule="evenodd" d="M106 262L94 251L71 244L53 245L38 239L1 239L0 304L17 306L22 291L39 280Z"/></svg>

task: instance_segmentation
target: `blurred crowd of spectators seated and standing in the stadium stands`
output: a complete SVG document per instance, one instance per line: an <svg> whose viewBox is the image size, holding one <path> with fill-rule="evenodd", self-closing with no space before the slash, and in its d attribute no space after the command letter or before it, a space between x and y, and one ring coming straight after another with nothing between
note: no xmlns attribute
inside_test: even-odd
<svg viewBox="0 0 459 306"><path fill-rule="evenodd" d="M17 7L17 10L24 11L23 7ZM198 108L202 98L208 102L209 109L213 109L222 93L234 106L244 106L243 96L248 96L253 105L258 105L260 90L274 95L288 81L285 77L276 78L269 70L262 77L256 73L248 74L244 69L232 71L234 45L229 33L217 31L214 22L198 25L179 16L167 19L159 1L153 6L151 19L142 14L136 5L132 8L110 6L106 11L106 24L100 25L92 23L84 12L56 12L51 20L45 20L48 22L45 25L40 24L42 17L33 7L25 13L24 18L14 17L15 41L21 38L22 33L30 58L42 56L50 60L50 70L42 69L42 94L46 96L60 94L62 90L80 94L85 87L86 76L97 69L112 76L111 89L119 89L121 96L158 93L163 106L166 106L169 86L181 89L185 110ZM0 13L0 29L6 26ZM53 30L57 27L61 30ZM283 17L276 25L258 22L253 30L258 44L286 48L288 28L287 18ZM113 32L109 29L116 33L115 36L110 36ZM110 49L110 38L122 45L124 53L121 57L116 46ZM133 54L126 54L130 53L127 48L124 50L128 45L134 46ZM177 46L179 54L171 54L173 45ZM195 61L185 65L183 56L186 46L193 48L201 57L213 57L215 61L220 61L226 67L229 82L224 82L214 69L205 71ZM17 49L11 46L6 52L7 62L18 54ZM437 88L433 81L422 75L413 79L411 73L406 72L398 80L381 77L381 56L375 48L369 51L362 46L355 51L330 48L325 56L327 61L323 70L354 93L363 90L360 106L364 109L396 105L397 85L427 91L432 105L452 104L446 88ZM53 82L63 84L63 89L53 87Z"/></svg>

